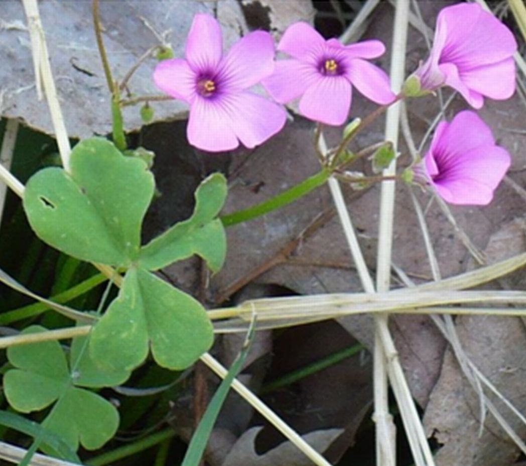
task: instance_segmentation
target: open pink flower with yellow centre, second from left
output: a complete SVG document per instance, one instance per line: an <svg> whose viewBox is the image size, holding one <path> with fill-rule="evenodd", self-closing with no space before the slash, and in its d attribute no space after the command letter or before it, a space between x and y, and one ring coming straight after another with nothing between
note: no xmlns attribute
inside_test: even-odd
<svg viewBox="0 0 526 466"><path fill-rule="evenodd" d="M311 120L342 125L349 115L352 86L377 103L395 99L387 75L365 60L385 51L378 40L344 46L337 39L325 40L307 23L295 23L278 50L292 59L278 61L274 74L262 84L277 102L301 97L299 110Z"/></svg>

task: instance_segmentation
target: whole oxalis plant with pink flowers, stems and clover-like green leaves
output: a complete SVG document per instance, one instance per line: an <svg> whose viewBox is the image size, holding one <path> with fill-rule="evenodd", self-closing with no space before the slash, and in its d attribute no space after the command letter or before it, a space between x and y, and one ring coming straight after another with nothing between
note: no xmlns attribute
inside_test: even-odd
<svg viewBox="0 0 526 466"><path fill-rule="evenodd" d="M41 240L95 264L120 289L108 304L105 293L94 312L50 303L75 320L77 327L58 335L53 333L56 330L29 326L8 348L12 368L5 373L3 384L9 404L23 413L52 406L26 464L37 448L78 462L79 445L98 449L113 438L118 410L97 390L123 384L149 353L156 364L171 370L191 367L206 354L214 341L210 320L214 314L155 272L197 255L217 273L226 256L225 227L279 209L335 179L354 189L402 180L433 191L451 204L485 205L510 166L509 153L495 143L491 129L473 110L439 122L424 157L412 153L411 163L398 172L390 171L399 155L392 141L350 149L357 134L390 106L434 94L443 86L459 92L475 110L483 106L484 98L512 96L517 43L506 26L477 4L441 10L430 56L422 57L397 93L387 74L371 63L385 51L378 40L346 45L336 38L326 40L307 23L296 23L277 45L282 58L276 59L274 39L263 31L245 35L224 53L219 23L198 14L189 26L184 58L174 58L167 46L155 49L159 64L152 79L166 96L124 99L120 95L123 83L114 80L104 50L97 1L94 19L112 94L113 141L82 140L65 168L38 171L25 187L23 206ZM133 71L126 81L131 74ZM265 95L251 91L256 85L264 88ZM356 90L379 107L349 121ZM284 104L299 101L299 113L317 122L314 136L320 171L261 204L222 216L227 182L215 173L198 187L190 218L143 245L143 219L155 194L150 171L153 154L128 148L121 110L145 103L140 111L149 120L153 102L163 99L188 104L188 142L210 152L232 150L239 144L259 146L285 126ZM343 125L340 143L327 149L323 126ZM352 170L363 158L371 161L372 175ZM9 279L3 281L12 284ZM371 292L371 286L366 291ZM246 357L257 316L252 320L247 344L210 403L185 466L199 464L219 407ZM56 341L71 337L67 348ZM281 430L301 444L286 427ZM389 444L382 434L379 438ZM381 464L394 464L393 459L386 459L392 450L383 448L379 450ZM420 453L413 448L417 464L432 464L429 447L421 448ZM317 464L327 464L316 452L307 449L307 454Z"/></svg>

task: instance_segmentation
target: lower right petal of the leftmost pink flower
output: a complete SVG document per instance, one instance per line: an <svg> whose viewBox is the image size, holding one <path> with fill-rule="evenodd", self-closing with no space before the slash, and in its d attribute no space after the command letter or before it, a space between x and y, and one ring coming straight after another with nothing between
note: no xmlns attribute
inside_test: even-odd
<svg viewBox="0 0 526 466"><path fill-rule="evenodd" d="M287 113L280 105L251 92L230 95L219 106L225 121L249 149L274 136L287 120Z"/></svg>

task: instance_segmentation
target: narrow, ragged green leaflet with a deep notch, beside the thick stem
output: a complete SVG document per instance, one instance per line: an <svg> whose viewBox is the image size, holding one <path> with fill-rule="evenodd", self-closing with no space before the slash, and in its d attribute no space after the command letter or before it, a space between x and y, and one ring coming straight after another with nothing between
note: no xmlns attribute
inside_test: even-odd
<svg viewBox="0 0 526 466"><path fill-rule="evenodd" d="M202 257L213 272L225 261L226 236L217 215L227 195L223 175L215 173L204 180L195 193L193 215L177 223L150 241L140 252L139 263L148 270L158 270L194 254Z"/></svg>

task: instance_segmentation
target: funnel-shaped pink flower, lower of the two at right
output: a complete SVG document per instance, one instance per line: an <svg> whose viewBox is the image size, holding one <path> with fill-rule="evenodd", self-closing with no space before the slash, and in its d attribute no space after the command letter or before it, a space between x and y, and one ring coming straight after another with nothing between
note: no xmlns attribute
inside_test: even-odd
<svg viewBox="0 0 526 466"><path fill-rule="evenodd" d="M465 110L451 123L439 123L422 165L417 170L445 201L486 205L510 167L510 155L495 145L484 121Z"/></svg>

